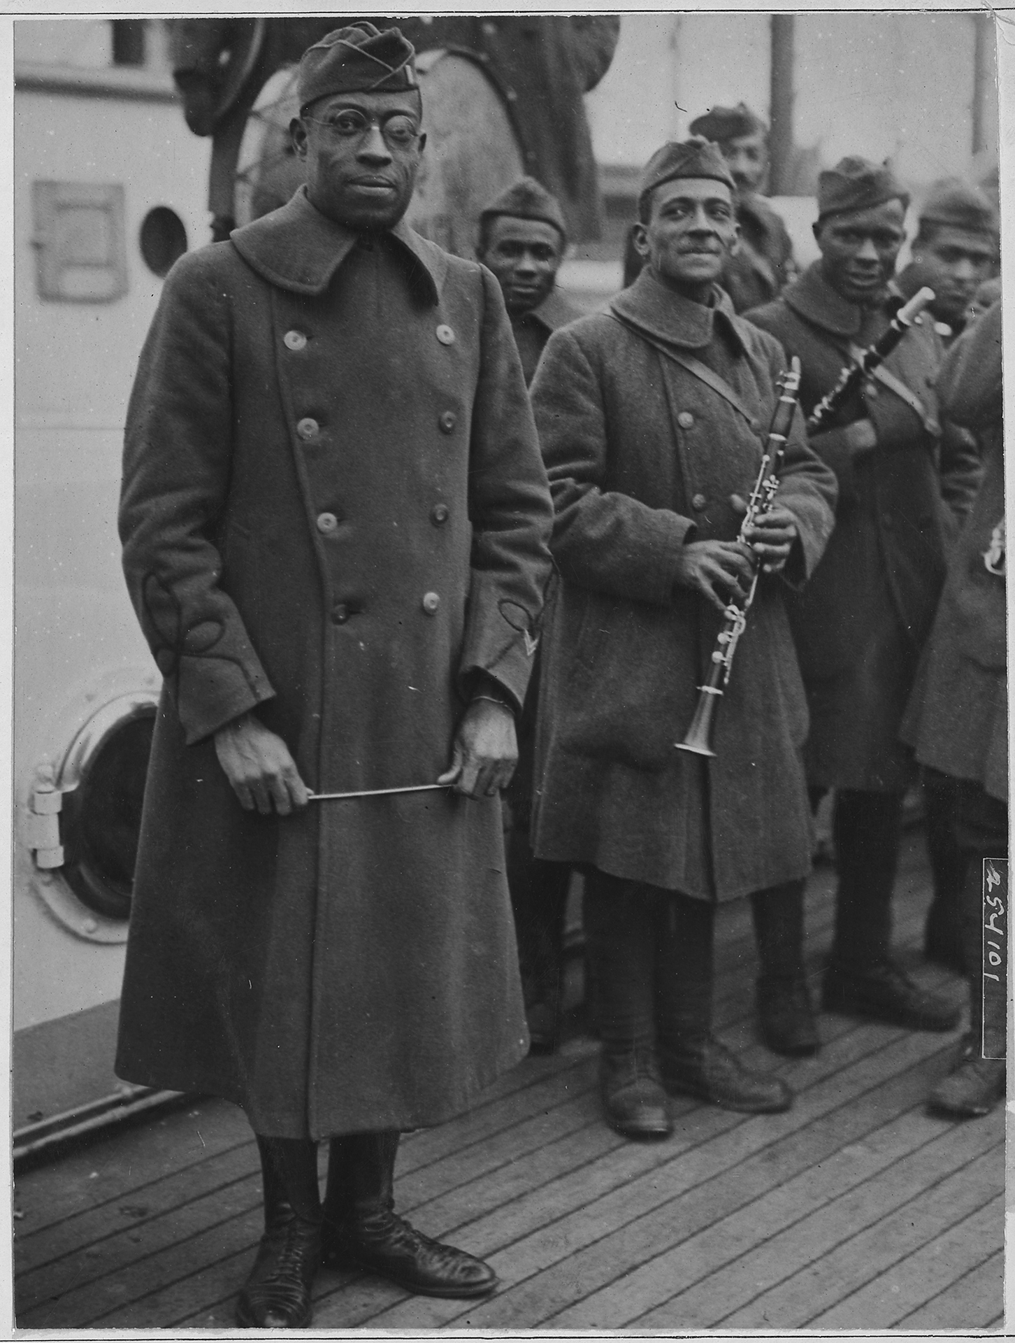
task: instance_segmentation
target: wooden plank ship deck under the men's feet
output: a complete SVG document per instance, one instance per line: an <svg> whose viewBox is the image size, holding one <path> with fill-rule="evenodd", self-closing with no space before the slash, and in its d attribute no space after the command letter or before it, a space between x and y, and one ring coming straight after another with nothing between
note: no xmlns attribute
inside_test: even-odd
<svg viewBox="0 0 1015 1343"><path fill-rule="evenodd" d="M831 873L808 889L815 980L831 932ZM917 978L929 878L905 843L897 944ZM717 1023L772 1066L752 1023L744 904L721 911ZM956 1035L822 1015L815 1058L777 1061L784 1115L674 1103L674 1133L644 1144L606 1127L596 1046L572 1030L467 1115L407 1136L397 1207L487 1258L498 1292L411 1297L358 1273L321 1273L316 1330L1000 1330L1004 1112L949 1123L925 1099ZM324 1156L324 1150L322 1150ZM256 1150L243 1115L199 1100L111 1132L16 1180L21 1328L101 1332L232 1327L260 1233Z"/></svg>

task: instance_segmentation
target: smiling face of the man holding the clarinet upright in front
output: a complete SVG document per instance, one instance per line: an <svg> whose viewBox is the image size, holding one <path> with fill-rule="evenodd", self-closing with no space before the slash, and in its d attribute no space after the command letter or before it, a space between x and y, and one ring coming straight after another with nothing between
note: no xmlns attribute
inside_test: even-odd
<svg viewBox="0 0 1015 1343"><path fill-rule="evenodd" d="M657 187L648 223L635 224L634 243L661 279L704 286L720 278L740 228L733 193L712 177L677 177Z"/></svg>

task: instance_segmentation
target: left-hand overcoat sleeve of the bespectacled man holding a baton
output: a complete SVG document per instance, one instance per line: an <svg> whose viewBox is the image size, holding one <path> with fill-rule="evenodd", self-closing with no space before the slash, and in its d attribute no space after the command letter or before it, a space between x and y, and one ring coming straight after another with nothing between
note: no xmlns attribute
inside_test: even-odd
<svg viewBox="0 0 1015 1343"><path fill-rule="evenodd" d="M188 744L274 696L220 586L231 326L207 254L171 271L130 395L119 536L130 599Z"/></svg>

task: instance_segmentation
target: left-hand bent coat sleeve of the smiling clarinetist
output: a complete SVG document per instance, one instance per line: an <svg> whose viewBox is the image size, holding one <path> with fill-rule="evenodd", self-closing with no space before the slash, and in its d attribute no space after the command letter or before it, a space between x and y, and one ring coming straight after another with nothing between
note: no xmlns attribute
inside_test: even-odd
<svg viewBox="0 0 1015 1343"><path fill-rule="evenodd" d="M553 494L553 559L564 579L612 596L669 606L694 522L606 489L603 371L568 329L554 332L532 384Z"/></svg>

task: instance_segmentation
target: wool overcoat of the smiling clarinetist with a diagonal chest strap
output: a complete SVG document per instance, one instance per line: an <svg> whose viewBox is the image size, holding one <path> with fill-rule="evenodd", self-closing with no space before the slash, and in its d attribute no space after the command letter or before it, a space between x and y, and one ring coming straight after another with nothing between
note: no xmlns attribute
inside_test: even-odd
<svg viewBox="0 0 1015 1343"><path fill-rule="evenodd" d="M811 814L807 706L783 607L764 576L718 712L716 759L675 748L721 616L675 588L691 539L733 540L729 502L757 477L784 368L728 295L693 304L650 271L550 336L533 408L556 508L560 584L544 645L533 837L540 858L592 864L712 900L802 877ZM721 371L744 412L674 363ZM835 479L796 414L779 500L803 582L832 526Z"/></svg>

